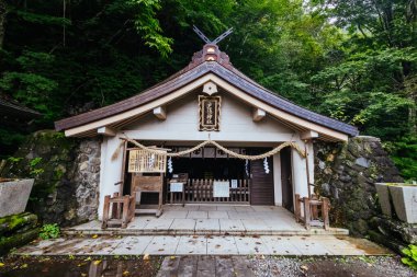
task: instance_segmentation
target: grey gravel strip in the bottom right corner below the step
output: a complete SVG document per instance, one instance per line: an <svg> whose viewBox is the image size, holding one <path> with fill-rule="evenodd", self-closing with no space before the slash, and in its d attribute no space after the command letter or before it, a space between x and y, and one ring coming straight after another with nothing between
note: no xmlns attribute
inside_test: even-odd
<svg viewBox="0 0 417 277"><path fill-rule="evenodd" d="M399 257L280 257L250 258L256 276L283 277L414 277L415 272L403 265Z"/></svg>

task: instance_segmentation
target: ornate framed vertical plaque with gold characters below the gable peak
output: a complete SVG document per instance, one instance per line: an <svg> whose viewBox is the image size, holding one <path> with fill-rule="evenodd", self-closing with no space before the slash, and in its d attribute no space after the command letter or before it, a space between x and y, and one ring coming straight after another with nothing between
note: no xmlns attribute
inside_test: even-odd
<svg viewBox="0 0 417 277"><path fill-rule="evenodd" d="M199 95L200 126L199 130L221 129L221 96L203 96Z"/></svg>

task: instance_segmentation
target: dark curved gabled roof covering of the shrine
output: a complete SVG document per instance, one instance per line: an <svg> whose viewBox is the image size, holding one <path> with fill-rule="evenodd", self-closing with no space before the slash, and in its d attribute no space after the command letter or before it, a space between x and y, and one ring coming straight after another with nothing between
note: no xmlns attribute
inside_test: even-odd
<svg viewBox="0 0 417 277"><path fill-rule="evenodd" d="M215 53L207 51L210 47L214 47ZM301 107L261 86L234 68L228 60L228 56L221 53L216 45L205 45L202 51L194 54L188 67L143 93L102 108L58 120L55 123L55 128L57 130L69 129L129 111L167 95L207 73L214 73L247 94L308 122L350 136L357 136L359 134L354 126Z"/></svg>

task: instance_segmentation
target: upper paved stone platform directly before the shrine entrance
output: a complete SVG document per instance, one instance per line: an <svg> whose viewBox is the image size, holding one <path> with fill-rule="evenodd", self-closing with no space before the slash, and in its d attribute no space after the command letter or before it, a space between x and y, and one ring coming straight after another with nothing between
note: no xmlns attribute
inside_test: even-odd
<svg viewBox="0 0 417 277"><path fill-rule="evenodd" d="M126 229L101 229L98 220L67 228L66 234L273 234L273 235L309 235L309 234L348 234L346 229L330 228L306 230L296 223L294 215L275 206L204 206L185 205L164 206L161 217L135 217Z"/></svg>

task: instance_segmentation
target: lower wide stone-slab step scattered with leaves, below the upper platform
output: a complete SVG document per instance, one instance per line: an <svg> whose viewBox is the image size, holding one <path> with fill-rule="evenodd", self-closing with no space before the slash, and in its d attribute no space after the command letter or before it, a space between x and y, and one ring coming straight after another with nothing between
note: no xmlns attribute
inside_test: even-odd
<svg viewBox="0 0 417 277"><path fill-rule="evenodd" d="M18 255L385 255L364 239L311 235L129 235L40 241Z"/></svg>

